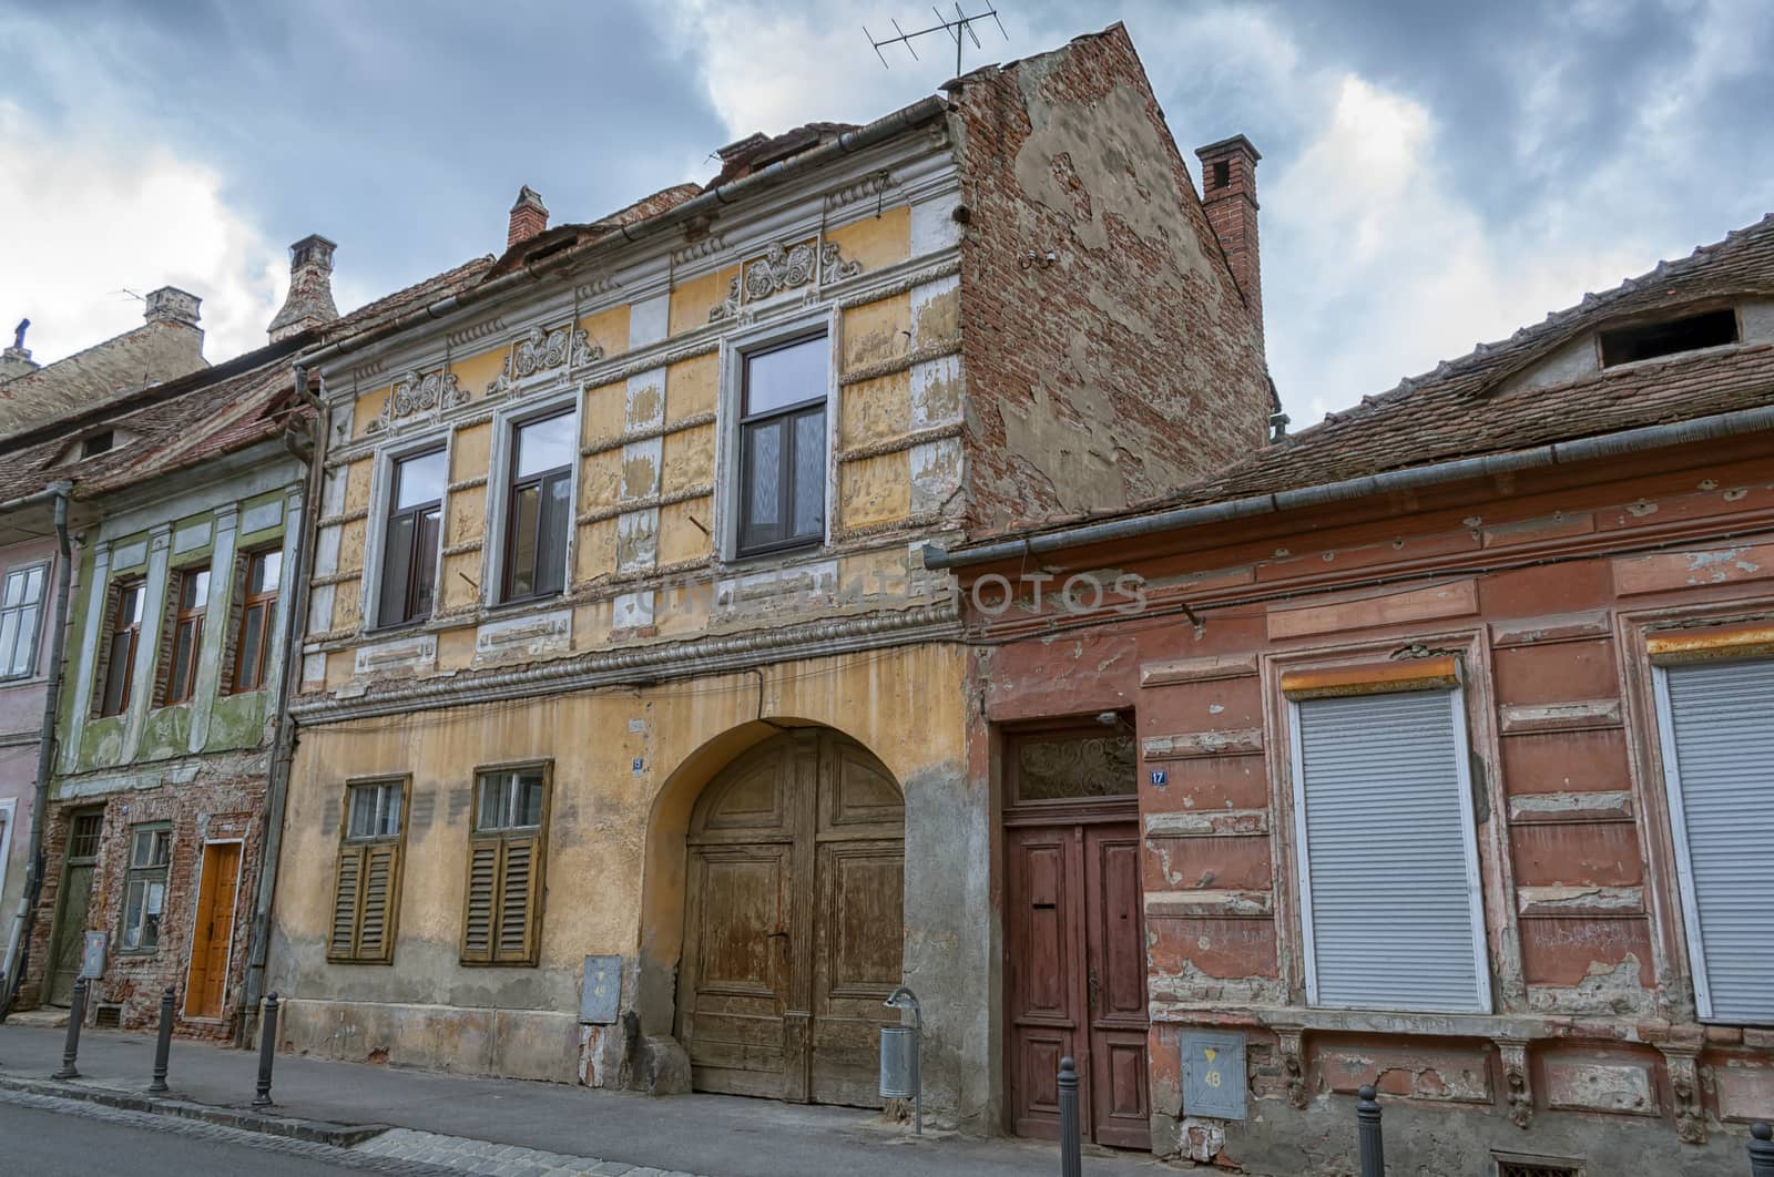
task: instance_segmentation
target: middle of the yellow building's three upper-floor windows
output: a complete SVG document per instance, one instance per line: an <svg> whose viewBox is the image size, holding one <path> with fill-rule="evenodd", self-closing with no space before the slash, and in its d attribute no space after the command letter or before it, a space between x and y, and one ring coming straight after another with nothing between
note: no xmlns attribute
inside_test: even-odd
<svg viewBox="0 0 1774 1177"><path fill-rule="evenodd" d="M578 443L571 411L523 422L511 434L504 599L518 601L550 596L566 585Z"/></svg>

